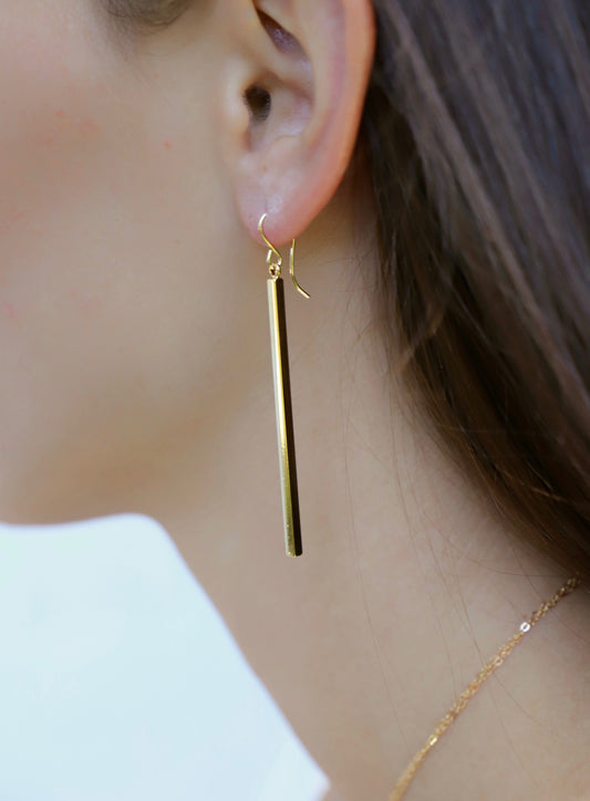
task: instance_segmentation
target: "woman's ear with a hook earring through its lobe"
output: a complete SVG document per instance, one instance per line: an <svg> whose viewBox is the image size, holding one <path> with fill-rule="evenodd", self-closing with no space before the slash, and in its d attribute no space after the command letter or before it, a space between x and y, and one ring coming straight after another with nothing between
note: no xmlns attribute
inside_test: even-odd
<svg viewBox="0 0 590 801"><path fill-rule="evenodd" d="M229 3L226 159L250 235L277 246L330 201L350 163L374 54L371 0ZM245 8L245 6L247 8ZM228 13L231 11L228 9Z"/></svg>

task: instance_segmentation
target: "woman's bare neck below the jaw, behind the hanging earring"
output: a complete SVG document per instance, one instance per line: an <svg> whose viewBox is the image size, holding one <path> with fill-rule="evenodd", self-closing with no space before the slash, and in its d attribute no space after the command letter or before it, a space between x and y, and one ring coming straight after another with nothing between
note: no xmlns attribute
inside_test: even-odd
<svg viewBox="0 0 590 801"><path fill-rule="evenodd" d="M299 249L311 301L287 300L303 556L283 550L268 342L239 413L220 412L198 451L184 439L142 508L343 794L386 799L487 658L569 576L518 541L384 378L360 278L373 266L359 267L346 215L328 222L335 237L310 233ZM584 590L563 600L488 679L416 777L424 798L468 786L539 799L539 777L547 798L566 798L559 782L590 739L588 606Z"/></svg>

